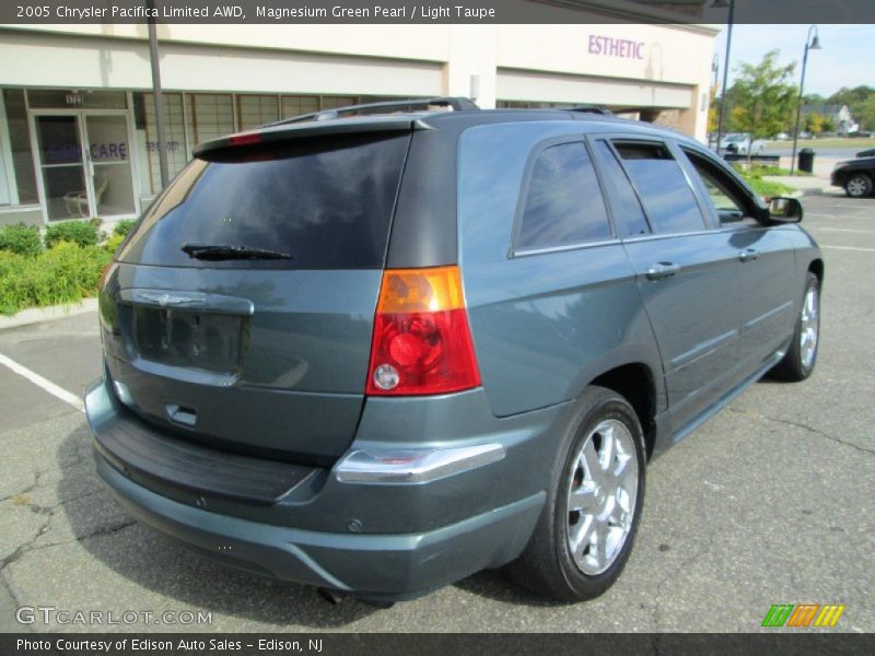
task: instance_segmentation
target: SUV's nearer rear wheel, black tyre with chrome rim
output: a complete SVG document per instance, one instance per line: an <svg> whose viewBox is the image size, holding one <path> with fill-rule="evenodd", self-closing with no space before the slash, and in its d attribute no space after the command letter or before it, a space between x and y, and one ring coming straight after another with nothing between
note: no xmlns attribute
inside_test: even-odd
<svg viewBox="0 0 875 656"><path fill-rule="evenodd" d="M617 393L588 387L562 438L535 532L509 567L513 579L565 602L607 590L632 550L645 467L635 411Z"/></svg>

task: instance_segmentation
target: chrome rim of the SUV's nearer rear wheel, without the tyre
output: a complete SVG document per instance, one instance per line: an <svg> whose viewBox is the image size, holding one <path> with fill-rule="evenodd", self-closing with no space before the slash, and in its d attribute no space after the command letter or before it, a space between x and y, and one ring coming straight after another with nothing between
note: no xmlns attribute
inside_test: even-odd
<svg viewBox="0 0 875 656"><path fill-rule="evenodd" d="M573 460L568 549L581 572L605 572L622 550L635 515L639 467L634 437L616 419L586 435Z"/></svg>

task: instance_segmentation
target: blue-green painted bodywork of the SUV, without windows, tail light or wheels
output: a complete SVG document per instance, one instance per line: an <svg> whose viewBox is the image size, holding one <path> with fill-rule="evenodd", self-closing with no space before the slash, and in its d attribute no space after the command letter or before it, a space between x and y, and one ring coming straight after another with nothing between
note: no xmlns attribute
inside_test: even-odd
<svg viewBox="0 0 875 656"><path fill-rule="evenodd" d="M675 132L561 110L268 131L280 143L359 128L410 132L383 267L115 263L101 291L105 373L85 399L98 475L138 519L248 572L396 600L512 561L544 512L587 386L621 367L645 378L623 383L645 388L637 410L657 455L780 360L806 272L822 276L817 245L796 225L721 226L679 148L716 160ZM592 156L593 136L667 144L701 230L622 237L605 189L609 238L516 250L533 153L571 140ZM762 200L716 162L762 218ZM742 257L750 250L758 257ZM680 268L651 280L660 262ZM383 269L446 265L459 267L481 384L366 396ZM206 353L165 348L200 344L198 326L232 339L212 335ZM404 462L469 448L494 457L425 479L341 476L355 454ZM208 464L192 465L205 449Z"/></svg>

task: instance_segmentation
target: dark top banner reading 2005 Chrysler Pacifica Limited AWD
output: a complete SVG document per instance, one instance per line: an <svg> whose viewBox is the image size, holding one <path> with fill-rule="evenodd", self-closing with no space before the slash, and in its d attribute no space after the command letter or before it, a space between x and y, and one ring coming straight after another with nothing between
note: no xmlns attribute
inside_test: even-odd
<svg viewBox="0 0 875 656"><path fill-rule="evenodd" d="M873 0L734 0L734 23L875 23ZM4 0L11 25L726 23L712 0Z"/></svg>

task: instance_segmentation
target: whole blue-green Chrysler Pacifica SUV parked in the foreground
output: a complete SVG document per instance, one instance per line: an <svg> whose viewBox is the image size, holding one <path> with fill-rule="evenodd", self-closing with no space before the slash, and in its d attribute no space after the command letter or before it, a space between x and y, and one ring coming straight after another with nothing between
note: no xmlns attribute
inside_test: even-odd
<svg viewBox="0 0 875 656"><path fill-rule="evenodd" d="M374 604L508 564L599 595L648 461L812 372L820 253L675 132L398 109L199 147L102 282L97 470L197 551Z"/></svg>

